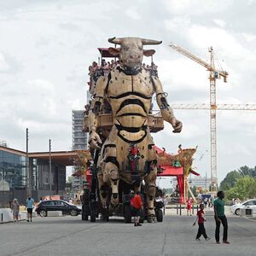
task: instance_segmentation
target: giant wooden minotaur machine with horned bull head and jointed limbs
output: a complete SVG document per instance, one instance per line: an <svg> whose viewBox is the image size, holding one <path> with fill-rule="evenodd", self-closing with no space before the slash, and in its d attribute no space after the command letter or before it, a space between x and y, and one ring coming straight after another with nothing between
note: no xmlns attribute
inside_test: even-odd
<svg viewBox="0 0 256 256"><path fill-rule="evenodd" d="M158 76L142 67L143 55L155 53L154 49L143 49L143 46L161 44L161 41L110 38L108 42L119 45L108 51L119 58L120 66L97 79L87 117L102 214L118 212L123 196L129 189L141 191L144 181L146 216L151 222L155 216L157 177L157 154L148 128L153 95L156 95L162 118L172 125L173 132L180 132L182 123L174 116ZM102 142L99 116L105 102L111 107L113 126Z"/></svg>

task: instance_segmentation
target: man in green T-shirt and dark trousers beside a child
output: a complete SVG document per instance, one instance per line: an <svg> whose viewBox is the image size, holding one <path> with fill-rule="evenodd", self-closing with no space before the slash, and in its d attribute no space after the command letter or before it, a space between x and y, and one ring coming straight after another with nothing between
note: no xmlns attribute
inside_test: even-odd
<svg viewBox="0 0 256 256"><path fill-rule="evenodd" d="M215 230L215 240L216 243L219 242L219 227L220 223L223 224L223 242L229 244L228 241L228 220L224 214L224 192L218 191L217 193L217 199L213 202L214 205L214 218L216 222L216 230Z"/></svg>

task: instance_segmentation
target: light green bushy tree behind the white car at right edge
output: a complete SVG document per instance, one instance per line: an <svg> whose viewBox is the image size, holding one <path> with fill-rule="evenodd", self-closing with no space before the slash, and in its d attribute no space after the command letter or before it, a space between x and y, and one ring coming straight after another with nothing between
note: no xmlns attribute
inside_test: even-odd
<svg viewBox="0 0 256 256"><path fill-rule="evenodd" d="M227 198L245 200L256 196L256 178L244 176L236 180L236 185L226 193Z"/></svg>

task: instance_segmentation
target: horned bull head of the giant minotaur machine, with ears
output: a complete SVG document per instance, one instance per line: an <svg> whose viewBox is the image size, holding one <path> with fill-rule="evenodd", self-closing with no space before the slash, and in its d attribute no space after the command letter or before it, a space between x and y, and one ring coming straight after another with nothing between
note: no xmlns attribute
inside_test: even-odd
<svg viewBox="0 0 256 256"><path fill-rule="evenodd" d="M154 55L154 49L143 49L143 45L162 43L162 41L143 38L109 38L108 42L112 44L120 44L120 48L110 47L108 50L112 55L118 56L119 60L126 67L141 66L143 55Z"/></svg>

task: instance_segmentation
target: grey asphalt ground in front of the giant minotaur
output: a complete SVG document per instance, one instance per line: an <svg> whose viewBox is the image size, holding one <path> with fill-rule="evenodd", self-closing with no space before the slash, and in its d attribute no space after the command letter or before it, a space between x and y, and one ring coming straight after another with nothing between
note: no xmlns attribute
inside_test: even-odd
<svg viewBox="0 0 256 256"><path fill-rule="evenodd" d="M256 255L255 220L229 216L230 245L215 244L211 212L206 229L212 239L195 241L194 220L195 217L168 214L162 223L134 227L120 218L90 223L81 221L80 216L67 216L0 224L0 256Z"/></svg>

